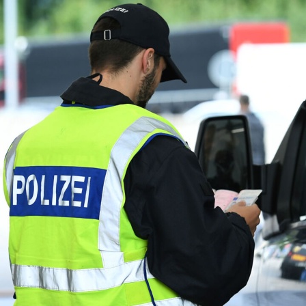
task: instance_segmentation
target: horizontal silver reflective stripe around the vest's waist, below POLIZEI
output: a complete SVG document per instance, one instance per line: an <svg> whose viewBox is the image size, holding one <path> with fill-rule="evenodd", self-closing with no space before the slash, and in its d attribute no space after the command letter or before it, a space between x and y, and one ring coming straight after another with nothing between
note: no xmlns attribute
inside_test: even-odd
<svg viewBox="0 0 306 306"><path fill-rule="evenodd" d="M148 265L146 265L148 266ZM14 286L49 290L86 292L107 290L122 283L144 281L143 260L113 268L70 270L12 264ZM147 268L148 278L153 278Z"/></svg>

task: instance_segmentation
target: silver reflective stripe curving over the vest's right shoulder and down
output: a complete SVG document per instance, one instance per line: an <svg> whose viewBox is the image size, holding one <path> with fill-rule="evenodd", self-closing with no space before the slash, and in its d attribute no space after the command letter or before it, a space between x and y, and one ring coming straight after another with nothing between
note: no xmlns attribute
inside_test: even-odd
<svg viewBox="0 0 306 306"><path fill-rule="evenodd" d="M120 210L124 196L121 182L124 169L141 140L156 129L171 133L188 146L171 126L150 117L141 117L136 120L117 140L111 151L100 208L98 247L105 267L124 263L123 255L120 253L119 238Z"/></svg>

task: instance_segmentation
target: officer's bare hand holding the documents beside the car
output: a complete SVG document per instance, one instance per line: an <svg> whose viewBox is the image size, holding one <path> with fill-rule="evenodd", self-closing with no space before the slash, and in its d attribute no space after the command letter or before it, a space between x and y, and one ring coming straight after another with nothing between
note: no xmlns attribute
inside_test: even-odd
<svg viewBox="0 0 306 306"><path fill-rule="evenodd" d="M245 201L239 201L237 204L232 205L226 212L236 212L245 222L249 225L252 235L254 236L258 224L260 224L260 209L256 204L246 206Z"/></svg>

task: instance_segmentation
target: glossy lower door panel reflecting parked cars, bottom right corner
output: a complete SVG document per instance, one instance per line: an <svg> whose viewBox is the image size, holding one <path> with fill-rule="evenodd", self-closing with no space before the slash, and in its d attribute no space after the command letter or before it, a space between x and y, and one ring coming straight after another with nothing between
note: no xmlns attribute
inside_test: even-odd
<svg viewBox="0 0 306 306"><path fill-rule="evenodd" d="M290 230L264 247L258 301L264 306L305 306L306 230Z"/></svg>

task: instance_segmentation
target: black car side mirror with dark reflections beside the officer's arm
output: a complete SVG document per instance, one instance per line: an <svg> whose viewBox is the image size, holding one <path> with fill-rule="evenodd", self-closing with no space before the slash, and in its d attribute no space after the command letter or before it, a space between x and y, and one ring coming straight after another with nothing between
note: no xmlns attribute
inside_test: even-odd
<svg viewBox="0 0 306 306"><path fill-rule="evenodd" d="M253 189L247 117L210 117L199 126L195 154L212 189Z"/></svg>

